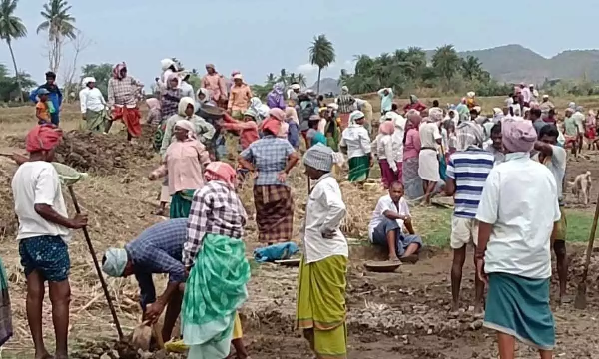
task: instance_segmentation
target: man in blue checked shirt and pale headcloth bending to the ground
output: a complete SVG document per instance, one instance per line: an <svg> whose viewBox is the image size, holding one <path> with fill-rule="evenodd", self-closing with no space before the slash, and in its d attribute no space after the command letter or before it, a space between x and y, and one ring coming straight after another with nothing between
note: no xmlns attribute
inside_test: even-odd
<svg viewBox="0 0 599 359"><path fill-rule="evenodd" d="M179 284L185 282L183 244L187 242L187 218L175 218L154 224L125 245L108 248L102 258L102 270L109 276L134 275L140 286L140 305L144 320L156 321L167 307L162 339L171 339L179 317L183 294ZM153 273L168 273L168 284L156 297Z"/></svg>

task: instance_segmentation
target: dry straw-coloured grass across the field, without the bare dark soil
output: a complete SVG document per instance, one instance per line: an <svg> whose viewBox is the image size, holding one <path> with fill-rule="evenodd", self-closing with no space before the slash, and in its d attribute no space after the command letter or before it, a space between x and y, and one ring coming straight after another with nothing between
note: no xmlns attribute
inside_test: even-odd
<svg viewBox="0 0 599 359"><path fill-rule="evenodd" d="M371 99L376 113L378 100ZM426 103L428 99L424 100ZM485 108L491 108L503 103L503 98L480 99ZM555 99L557 107L564 107L567 99ZM599 97L574 99L586 107L599 107ZM400 101L401 102L401 101ZM440 99L441 104L455 102L455 99ZM403 102L401 102L403 104ZM66 105L62 110L62 127L75 129L80 126L80 114L76 105ZM4 136L23 135L26 130L35 123L34 108L0 108L0 123ZM125 141L124 136L117 141ZM231 145L231 144L229 144ZM10 147L5 139L0 139L0 147ZM160 184L150 182L146 175L158 165L158 157L146 159L145 162L137 163L135 168L127 172L117 174L90 176L75 186L78 200L84 212L89 214L89 233L93 245L101 255L108 247L122 246L139 235L151 224L161 221L162 218L152 215L151 212L156 204L156 196L159 193ZM0 257L4 260L8 275L10 276L11 300L13 303L14 337L4 346L4 357L20 354L31 355L31 335L26 321L25 297L26 283L20 266L18 244L14 239L16 230L16 218L13 213L11 200L10 179L16 166L5 158L0 158L0 200L2 200L2 212L0 213ZM299 235L301 221L305 214L305 201L308 193L308 184L305 175L302 174L301 166L294 169L290 176L292 194L295 201L295 233ZM353 238L367 238L367 225L371 211L376 205L377 199L383 193L378 187L364 189L346 181L340 182L346 202L348 215L346 220L347 236ZM253 215L252 182L248 181L239 191L240 197L246 206L248 213ZM65 192L65 195L68 193ZM74 209L69 203L69 213ZM443 220L444 212L440 210L416 207L412 209L415 218L415 228L418 232L426 235L432 233L435 223ZM251 255L253 248L257 246L256 224L250 220L247 226L247 251ZM296 239L297 236L296 236ZM89 340L105 340L116 338L116 330L108 311L107 303L102 294L93 262L87 250L86 242L81 231L75 231L70 245L71 253L71 347L77 348ZM156 276L156 287L158 291L164 288L165 276ZM260 277L259 281L277 281L273 278ZM258 293L259 287L253 279L250 284L250 308L256 308L262 297L273 296L273 293L262 293L253 299L252 294ZM294 280L290 279L290 283ZM137 305L138 287L134 278L108 279L110 292L115 299L117 314L125 329L130 329L137 324L140 309ZM284 289L284 288L283 288ZM282 290L283 290L282 289ZM254 292L255 291L255 292ZM254 300L258 302L253 302ZM44 333L51 347L52 332L51 306L49 299L44 303Z"/></svg>

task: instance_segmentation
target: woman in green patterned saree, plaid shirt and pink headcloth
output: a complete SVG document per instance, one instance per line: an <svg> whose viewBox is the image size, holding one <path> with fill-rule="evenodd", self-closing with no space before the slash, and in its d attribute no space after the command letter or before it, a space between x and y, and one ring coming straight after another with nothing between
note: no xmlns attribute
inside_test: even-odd
<svg viewBox="0 0 599 359"><path fill-rule="evenodd" d="M211 162L204 175L207 183L193 196L183 245L189 273L181 310L183 341L189 345L188 359L225 358L231 343L237 357L247 359L240 323L235 323L250 279L241 239L247 214L235 193L237 172L230 165Z"/></svg>

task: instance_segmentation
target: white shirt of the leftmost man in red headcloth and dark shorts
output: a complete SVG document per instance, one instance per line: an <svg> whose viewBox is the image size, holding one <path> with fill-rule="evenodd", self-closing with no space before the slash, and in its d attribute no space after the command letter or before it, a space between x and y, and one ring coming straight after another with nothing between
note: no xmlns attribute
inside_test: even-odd
<svg viewBox="0 0 599 359"><path fill-rule="evenodd" d="M13 177L14 211L19 217L17 239L37 236L60 236L68 242L71 231L44 220L36 211L37 204L50 205L63 217L68 217L58 172L50 162L25 162Z"/></svg>

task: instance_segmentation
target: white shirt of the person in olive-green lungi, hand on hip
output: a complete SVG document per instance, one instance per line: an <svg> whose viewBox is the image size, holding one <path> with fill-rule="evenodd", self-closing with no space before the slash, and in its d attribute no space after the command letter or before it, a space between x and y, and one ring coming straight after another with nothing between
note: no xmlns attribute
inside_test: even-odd
<svg viewBox="0 0 599 359"><path fill-rule="evenodd" d="M312 188L305 211L306 263L323 260L331 255L349 256L347 240L339 229L346 213L337 180L331 174L323 175ZM334 230L333 238L323 238L322 232L325 230Z"/></svg>

